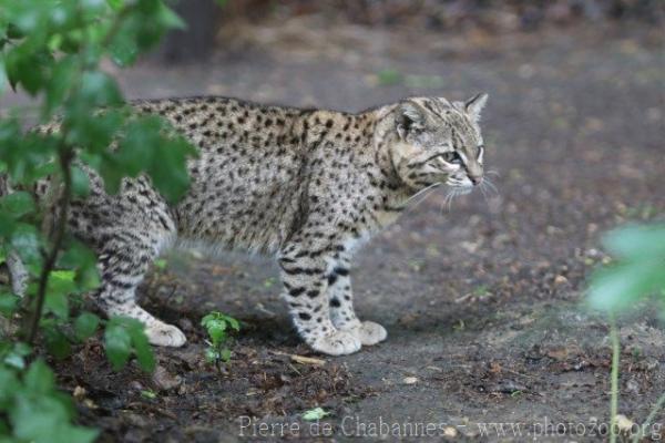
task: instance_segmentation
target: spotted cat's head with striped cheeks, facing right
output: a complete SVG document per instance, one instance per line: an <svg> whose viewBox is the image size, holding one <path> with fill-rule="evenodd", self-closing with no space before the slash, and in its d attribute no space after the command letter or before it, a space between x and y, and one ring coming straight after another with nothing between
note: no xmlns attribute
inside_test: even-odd
<svg viewBox="0 0 665 443"><path fill-rule="evenodd" d="M483 179L484 146L480 113L488 94L467 102L411 97L398 103L390 117L390 157L401 181L419 190L442 183L470 190Z"/></svg>

